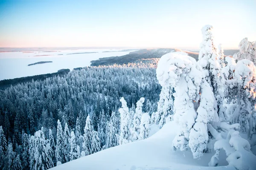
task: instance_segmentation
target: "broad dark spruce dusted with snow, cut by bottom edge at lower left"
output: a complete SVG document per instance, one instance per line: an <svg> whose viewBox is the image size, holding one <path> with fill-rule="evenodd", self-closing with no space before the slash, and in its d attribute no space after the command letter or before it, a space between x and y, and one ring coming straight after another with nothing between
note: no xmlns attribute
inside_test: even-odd
<svg viewBox="0 0 256 170"><path fill-rule="evenodd" d="M53 166L52 155L49 146L47 147L44 132L38 130L35 132L35 166L33 169L46 170Z"/></svg>

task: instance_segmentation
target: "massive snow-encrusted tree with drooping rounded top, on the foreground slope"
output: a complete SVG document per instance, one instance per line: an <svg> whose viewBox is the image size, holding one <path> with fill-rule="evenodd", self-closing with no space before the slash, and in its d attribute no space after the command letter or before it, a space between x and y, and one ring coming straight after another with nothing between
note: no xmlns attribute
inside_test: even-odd
<svg viewBox="0 0 256 170"><path fill-rule="evenodd" d="M174 120L180 127L173 140L174 150L186 151L190 148L194 158L200 158L207 150L207 123L218 119L214 110L214 95L194 58L182 52L163 57L168 58L163 66L169 72L158 75L158 80L175 89Z"/></svg>

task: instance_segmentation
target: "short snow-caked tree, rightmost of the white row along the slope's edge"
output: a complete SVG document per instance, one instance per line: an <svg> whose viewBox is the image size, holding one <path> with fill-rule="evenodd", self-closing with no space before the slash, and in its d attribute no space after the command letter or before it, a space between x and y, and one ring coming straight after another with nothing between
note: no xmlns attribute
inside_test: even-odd
<svg viewBox="0 0 256 170"><path fill-rule="evenodd" d="M143 113L140 121L140 136L139 139L143 140L148 138L150 131L150 116L148 113Z"/></svg>

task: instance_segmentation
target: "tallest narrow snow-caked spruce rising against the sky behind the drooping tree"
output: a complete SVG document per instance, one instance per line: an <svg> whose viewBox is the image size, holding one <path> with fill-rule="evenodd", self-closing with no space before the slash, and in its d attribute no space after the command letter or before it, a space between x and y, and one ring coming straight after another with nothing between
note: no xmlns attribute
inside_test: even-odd
<svg viewBox="0 0 256 170"><path fill-rule="evenodd" d="M201 29L203 41L201 42L198 64L203 68L205 79L212 88L217 102L217 108L215 109L217 110L220 121L222 121L227 119L223 108L224 85L221 80L221 65L218 62L212 29L213 27L210 25L206 25Z"/></svg>

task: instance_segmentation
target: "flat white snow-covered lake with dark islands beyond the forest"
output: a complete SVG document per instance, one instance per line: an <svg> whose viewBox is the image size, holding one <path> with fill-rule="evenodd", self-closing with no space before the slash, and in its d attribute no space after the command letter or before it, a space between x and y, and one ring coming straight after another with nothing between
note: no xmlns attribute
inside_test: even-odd
<svg viewBox="0 0 256 170"><path fill-rule="evenodd" d="M122 49L2 52L0 53L0 80L54 73L63 68L72 70L73 68L90 66L92 60L122 56L129 54L129 52L131 51L122 51ZM28 66L40 61L52 62Z"/></svg>

